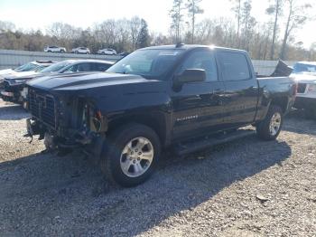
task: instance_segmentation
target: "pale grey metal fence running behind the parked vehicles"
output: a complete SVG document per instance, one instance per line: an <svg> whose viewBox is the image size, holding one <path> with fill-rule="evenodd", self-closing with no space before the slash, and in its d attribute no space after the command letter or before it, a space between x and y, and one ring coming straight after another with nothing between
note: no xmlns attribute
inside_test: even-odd
<svg viewBox="0 0 316 237"><path fill-rule="evenodd" d="M98 59L116 62L120 56L107 56L95 54L74 54L74 53L57 53L57 52L29 52L0 50L0 69L16 68L24 63L36 60L63 61L69 59ZM254 60L255 71L260 75L270 75L274 72L276 61L257 61ZM293 66L294 62L287 62Z"/></svg>

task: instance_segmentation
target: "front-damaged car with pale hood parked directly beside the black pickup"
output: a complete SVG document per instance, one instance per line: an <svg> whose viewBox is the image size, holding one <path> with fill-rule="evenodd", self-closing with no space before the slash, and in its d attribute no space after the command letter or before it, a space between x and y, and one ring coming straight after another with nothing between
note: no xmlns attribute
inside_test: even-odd
<svg viewBox="0 0 316 237"><path fill-rule="evenodd" d="M18 76L5 78L4 90L0 94L3 100L14 103L23 103L27 107L27 95L25 83L35 78L60 73L82 72L82 71L106 71L114 62L99 60L67 60L55 63L42 71L25 74L21 72ZM42 80L42 79L41 79Z"/></svg>

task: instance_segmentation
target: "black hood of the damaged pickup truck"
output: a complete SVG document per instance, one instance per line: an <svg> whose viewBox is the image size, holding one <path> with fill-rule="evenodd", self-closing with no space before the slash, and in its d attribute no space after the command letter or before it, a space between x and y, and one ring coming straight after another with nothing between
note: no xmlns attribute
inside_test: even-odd
<svg viewBox="0 0 316 237"><path fill-rule="evenodd" d="M111 86L140 83L149 84L153 81L154 80L146 80L138 75L109 72L82 72L35 78L27 82L27 85L47 91L92 91L92 93L94 93Z"/></svg>

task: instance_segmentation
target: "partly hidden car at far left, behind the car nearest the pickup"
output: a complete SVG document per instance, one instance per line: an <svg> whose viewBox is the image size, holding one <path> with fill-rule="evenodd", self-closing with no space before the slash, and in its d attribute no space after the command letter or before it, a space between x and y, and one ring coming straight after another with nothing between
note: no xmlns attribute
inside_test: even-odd
<svg viewBox="0 0 316 237"><path fill-rule="evenodd" d="M18 75L20 72L25 72L25 74L32 74L34 71L41 71L43 68L50 66L52 61L34 61L28 62L19 66L15 69L5 69L0 71L0 90L4 87L5 77ZM31 72L30 72L31 71Z"/></svg>

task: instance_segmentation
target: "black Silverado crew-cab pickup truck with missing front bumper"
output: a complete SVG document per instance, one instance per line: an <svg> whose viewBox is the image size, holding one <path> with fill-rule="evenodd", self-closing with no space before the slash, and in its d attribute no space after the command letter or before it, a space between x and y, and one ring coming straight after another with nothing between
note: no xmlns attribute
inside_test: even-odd
<svg viewBox="0 0 316 237"><path fill-rule="evenodd" d="M84 148L110 180L143 183L161 150L178 155L245 137L275 139L292 108L289 78L256 79L244 51L183 45L131 53L103 73L28 82L29 136L48 148ZM240 129L241 128L241 129Z"/></svg>

